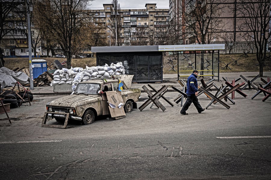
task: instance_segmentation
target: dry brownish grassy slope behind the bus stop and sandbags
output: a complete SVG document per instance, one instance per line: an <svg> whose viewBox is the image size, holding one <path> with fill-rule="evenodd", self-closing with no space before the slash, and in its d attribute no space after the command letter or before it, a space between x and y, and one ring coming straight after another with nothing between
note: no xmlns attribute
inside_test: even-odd
<svg viewBox="0 0 271 180"><path fill-rule="evenodd" d="M240 58L240 59L239 59ZM53 63L54 60L59 60L60 62L64 61L63 58L33 58L33 59L45 59L47 61L48 67ZM167 57L164 57L164 74L175 74L174 71L169 71L170 65L167 64ZM239 59L237 62L239 64L232 64L232 59ZM29 58L5 58L5 67L8 69L15 68L29 68ZM256 60L255 54L249 54L248 57L240 57L240 54L234 55L220 55L220 61L224 63L230 63L229 67L232 69L222 69L220 68L220 72L259 72L259 66L257 66L258 61ZM72 67L82 67L86 68L86 66L96 66L96 58L79 58L72 59ZM264 71L271 70L271 61L270 59L266 59ZM225 65L222 64L222 67ZM177 68L176 68L177 69Z"/></svg>

